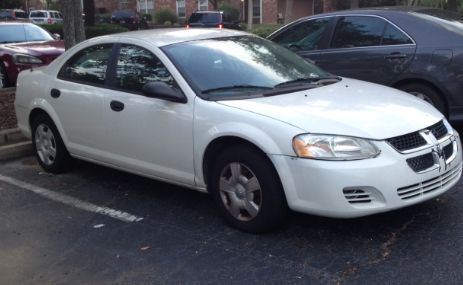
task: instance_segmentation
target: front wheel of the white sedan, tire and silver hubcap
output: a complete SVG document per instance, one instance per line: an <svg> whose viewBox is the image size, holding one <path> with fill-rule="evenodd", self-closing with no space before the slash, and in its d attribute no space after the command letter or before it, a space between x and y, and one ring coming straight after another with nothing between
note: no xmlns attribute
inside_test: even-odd
<svg viewBox="0 0 463 285"><path fill-rule="evenodd" d="M225 220L245 232L261 233L281 225L289 212L280 179L260 151L233 146L212 165L209 192Z"/></svg>

